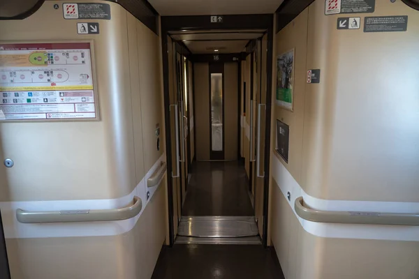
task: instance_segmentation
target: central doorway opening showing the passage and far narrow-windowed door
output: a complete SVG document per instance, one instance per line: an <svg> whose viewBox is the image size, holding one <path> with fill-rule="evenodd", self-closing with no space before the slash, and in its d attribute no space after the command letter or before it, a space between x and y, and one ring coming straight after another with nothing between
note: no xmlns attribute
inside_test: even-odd
<svg viewBox="0 0 419 279"><path fill-rule="evenodd" d="M172 243L265 243L270 30L164 31Z"/></svg>

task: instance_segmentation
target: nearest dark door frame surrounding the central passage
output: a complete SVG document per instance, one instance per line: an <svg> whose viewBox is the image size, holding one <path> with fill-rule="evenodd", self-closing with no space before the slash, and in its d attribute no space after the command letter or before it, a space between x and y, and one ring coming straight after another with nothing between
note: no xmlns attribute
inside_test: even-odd
<svg viewBox="0 0 419 279"><path fill-rule="evenodd" d="M166 156L167 161L172 162L171 137L170 137L170 98L169 98L169 67L168 67L168 37L170 31L181 30L245 30L245 29L265 29L267 32L267 102L266 102L266 133L270 135L271 128L271 96L272 96L272 57L274 39L274 15L224 15L223 22L212 23L210 15L192 16L163 16L161 17L161 47L163 57L163 94L164 94L164 114L166 121ZM263 183L263 246L267 247L267 220L268 220L268 200L269 200L269 164L270 163L270 137L265 137L265 178ZM175 242L173 230L173 206L172 206L172 164L167 164L168 177L168 215L169 215L169 245Z"/></svg>

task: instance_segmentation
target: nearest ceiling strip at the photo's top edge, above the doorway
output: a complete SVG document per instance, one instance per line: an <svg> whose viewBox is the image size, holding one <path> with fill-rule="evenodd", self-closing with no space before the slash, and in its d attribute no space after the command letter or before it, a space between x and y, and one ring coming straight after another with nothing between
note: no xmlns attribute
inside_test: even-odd
<svg viewBox="0 0 419 279"><path fill-rule="evenodd" d="M160 15L275 13L284 0L148 0Z"/></svg>

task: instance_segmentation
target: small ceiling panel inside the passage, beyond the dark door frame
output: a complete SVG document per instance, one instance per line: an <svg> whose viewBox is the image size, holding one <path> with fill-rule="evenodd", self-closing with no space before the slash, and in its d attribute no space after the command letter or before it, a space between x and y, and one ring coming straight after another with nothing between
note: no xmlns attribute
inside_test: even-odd
<svg viewBox="0 0 419 279"><path fill-rule="evenodd" d="M193 40L184 42L193 54L242 52L247 43L249 43L249 40ZM214 49L219 51L214 52Z"/></svg>

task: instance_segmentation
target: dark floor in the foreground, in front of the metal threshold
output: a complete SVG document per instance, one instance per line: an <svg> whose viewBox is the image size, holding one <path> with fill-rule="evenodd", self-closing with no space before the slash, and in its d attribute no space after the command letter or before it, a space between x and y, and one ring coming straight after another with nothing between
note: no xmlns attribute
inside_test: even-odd
<svg viewBox="0 0 419 279"><path fill-rule="evenodd" d="M284 279L274 250L249 245L163 248L152 279Z"/></svg>

